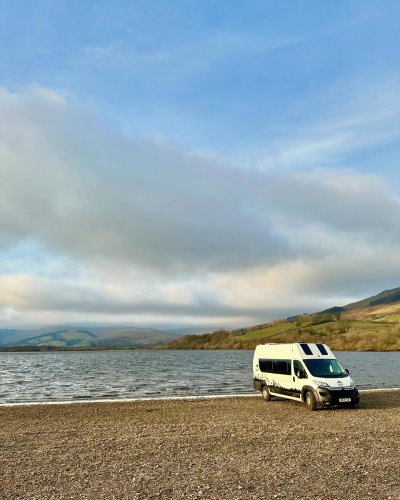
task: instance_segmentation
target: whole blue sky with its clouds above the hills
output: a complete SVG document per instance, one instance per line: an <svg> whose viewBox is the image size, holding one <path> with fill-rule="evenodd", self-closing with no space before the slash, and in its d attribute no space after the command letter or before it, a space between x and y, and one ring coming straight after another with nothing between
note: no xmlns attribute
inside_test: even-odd
<svg viewBox="0 0 400 500"><path fill-rule="evenodd" d="M400 3L0 0L0 328L400 286Z"/></svg>

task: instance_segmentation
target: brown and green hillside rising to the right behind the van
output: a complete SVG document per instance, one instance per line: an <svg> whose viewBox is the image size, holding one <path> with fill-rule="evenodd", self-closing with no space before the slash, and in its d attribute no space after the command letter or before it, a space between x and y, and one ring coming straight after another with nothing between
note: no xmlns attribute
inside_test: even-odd
<svg viewBox="0 0 400 500"><path fill-rule="evenodd" d="M323 342L334 350L400 350L400 288L325 311L272 323L186 335L162 348L254 349L266 342Z"/></svg>

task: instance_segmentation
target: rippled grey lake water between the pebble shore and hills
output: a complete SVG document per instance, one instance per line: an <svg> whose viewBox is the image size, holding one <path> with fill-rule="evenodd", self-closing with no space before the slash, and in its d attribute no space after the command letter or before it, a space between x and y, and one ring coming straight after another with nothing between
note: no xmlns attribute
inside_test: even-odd
<svg viewBox="0 0 400 500"><path fill-rule="evenodd" d="M339 352L360 389L400 385L400 352ZM253 351L0 353L0 404L251 394Z"/></svg>

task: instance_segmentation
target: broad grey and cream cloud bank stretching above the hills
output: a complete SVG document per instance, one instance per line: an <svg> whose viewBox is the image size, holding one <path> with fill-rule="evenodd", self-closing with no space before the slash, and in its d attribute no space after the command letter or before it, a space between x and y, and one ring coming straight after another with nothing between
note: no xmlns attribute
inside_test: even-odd
<svg viewBox="0 0 400 500"><path fill-rule="evenodd" d="M0 89L0 116L3 324L239 326L400 284L379 175L239 168L41 87Z"/></svg>

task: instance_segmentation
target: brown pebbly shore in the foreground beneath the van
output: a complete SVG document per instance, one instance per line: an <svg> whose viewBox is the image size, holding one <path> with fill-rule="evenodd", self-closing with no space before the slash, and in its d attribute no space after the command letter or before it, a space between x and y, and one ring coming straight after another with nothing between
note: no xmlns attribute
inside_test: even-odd
<svg viewBox="0 0 400 500"><path fill-rule="evenodd" d="M397 500L400 391L0 407L0 498Z"/></svg>

